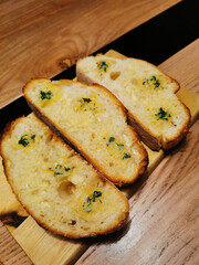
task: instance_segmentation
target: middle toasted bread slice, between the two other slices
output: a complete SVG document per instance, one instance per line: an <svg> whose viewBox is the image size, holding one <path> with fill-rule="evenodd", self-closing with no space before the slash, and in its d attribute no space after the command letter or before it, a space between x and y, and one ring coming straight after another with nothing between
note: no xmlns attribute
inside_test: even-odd
<svg viewBox="0 0 199 265"><path fill-rule="evenodd" d="M35 114L114 183L132 183L145 171L146 150L127 125L123 105L106 88L34 80L23 92Z"/></svg>

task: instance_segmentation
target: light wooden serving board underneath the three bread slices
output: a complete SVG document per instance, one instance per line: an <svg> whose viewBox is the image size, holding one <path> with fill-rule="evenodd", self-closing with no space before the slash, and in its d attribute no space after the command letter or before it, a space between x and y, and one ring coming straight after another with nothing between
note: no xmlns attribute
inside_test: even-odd
<svg viewBox="0 0 199 265"><path fill-rule="evenodd" d="M115 51L108 51L106 55L111 55L113 57L124 57L124 55ZM191 112L191 123L193 124L199 116L199 95L186 89L185 87L181 87L181 89L178 92L178 96L189 107ZM134 192L136 192L136 190L146 181L150 172L164 158L165 153L163 150L155 152L147 147L146 149L149 156L148 169L145 174L136 181L135 184L123 189L123 192L127 198L130 198ZM38 225L38 223L31 216L28 216L27 212L12 193L10 186L6 180L1 161L0 202L1 220L6 224L12 224L8 225L8 229L35 265L62 265L74 263L93 242L90 239L67 240L56 236ZM25 219L25 216L28 218ZM20 222L21 224L18 226ZM14 227L14 225L17 227ZM0 252L0 261L2 255L3 253ZM8 253L4 255L8 255Z"/></svg>

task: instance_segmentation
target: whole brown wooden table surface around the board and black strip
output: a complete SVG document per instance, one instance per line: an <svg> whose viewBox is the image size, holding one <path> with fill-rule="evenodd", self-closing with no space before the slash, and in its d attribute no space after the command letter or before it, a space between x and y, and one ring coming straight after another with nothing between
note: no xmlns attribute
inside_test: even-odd
<svg viewBox="0 0 199 265"><path fill-rule="evenodd" d="M0 108L21 96L30 78L53 77L178 2L0 1ZM159 67L199 93L198 59L196 40ZM167 153L143 184L133 188L128 225L118 234L88 241L87 251L70 264L198 265L198 144L196 121L187 139ZM31 264L4 229L0 223L0 264Z"/></svg>

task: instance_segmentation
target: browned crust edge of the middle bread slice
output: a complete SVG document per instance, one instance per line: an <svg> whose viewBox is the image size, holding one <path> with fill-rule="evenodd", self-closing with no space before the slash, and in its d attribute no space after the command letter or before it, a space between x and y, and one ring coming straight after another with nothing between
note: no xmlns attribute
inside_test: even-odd
<svg viewBox="0 0 199 265"><path fill-rule="evenodd" d="M40 80L40 78L38 78ZM45 78L41 78L45 80ZM48 81L48 80L46 80ZM98 171L98 173L103 174L103 177L105 177L107 180L111 180L114 184L122 187L122 186L128 186L132 184L133 182L136 181L136 179L143 174L148 166L148 153L146 151L146 149L144 148L144 146L142 145L138 135L136 134L136 131L127 124L127 114L126 114L126 108L124 107L124 105L115 97L115 95L113 95L106 87L101 86L98 84L93 84L93 86L95 86L97 89L100 91L104 91L107 96L109 96L112 98L112 100L114 100L114 103L122 109L123 115L124 115L124 119L126 125L128 126L128 128L130 128L132 134L134 135L134 137L137 140L137 144L139 145L139 149L140 149L140 153L143 155L143 160L140 161L140 167L139 170L137 171L136 176L134 177L134 179L130 180L117 180L117 178L115 176L107 176L107 173L105 172L104 168L101 167L97 162L95 162L91 156L88 156L88 153L86 153L81 146L78 146L78 144L73 140L69 134L66 134L66 131L63 131L57 125L55 125L53 123L53 120L50 117L46 117L42 112L39 110L39 108L33 104L33 102L31 100L31 98L27 95L25 91L29 88L29 86L31 86L32 82L34 81L30 81L24 87L23 87L23 95L28 102L28 105L30 106L30 108L35 113L35 115L43 120L43 123L45 123L56 135L59 135L59 137L61 137L65 142L67 142L73 149L75 149L75 151L77 151L78 153L81 153L83 156L84 159L86 159L88 162L91 162L94 168ZM65 81L65 80L61 80L59 82L73 82L73 81ZM83 85L85 85L83 82L78 82Z"/></svg>

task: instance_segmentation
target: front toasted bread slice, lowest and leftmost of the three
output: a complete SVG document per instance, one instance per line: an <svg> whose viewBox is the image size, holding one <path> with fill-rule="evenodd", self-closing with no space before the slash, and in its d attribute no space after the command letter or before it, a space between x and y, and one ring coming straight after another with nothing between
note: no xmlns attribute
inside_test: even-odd
<svg viewBox="0 0 199 265"><path fill-rule="evenodd" d="M0 151L12 190L45 229L76 239L125 223L127 199L36 117L13 121Z"/></svg>

